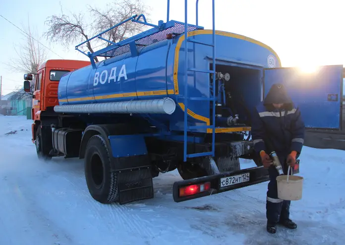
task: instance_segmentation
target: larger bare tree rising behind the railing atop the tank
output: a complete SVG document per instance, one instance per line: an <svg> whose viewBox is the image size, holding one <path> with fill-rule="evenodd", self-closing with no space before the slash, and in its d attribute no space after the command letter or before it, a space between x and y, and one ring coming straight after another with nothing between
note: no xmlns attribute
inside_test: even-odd
<svg viewBox="0 0 345 245"><path fill-rule="evenodd" d="M65 15L61 7L61 15L52 15L47 18L46 24L49 26L48 31L44 34L47 40L59 42L64 45L76 44L77 41L87 41L92 36L113 27L115 24L135 14L145 14L148 16L148 8L140 0L121 0L107 4L105 9L88 6L89 15L87 18L81 13L71 13ZM89 23L87 22L89 20ZM90 21L91 20L91 21ZM147 19L147 21L149 21ZM122 41L129 36L143 31L143 24L129 21L115 29L107 32L105 38L110 41ZM99 43L100 40L93 40L93 43ZM96 46L107 46L109 42L103 42ZM95 50L90 41L85 43L88 51L93 53ZM94 58L98 62L98 58Z"/></svg>

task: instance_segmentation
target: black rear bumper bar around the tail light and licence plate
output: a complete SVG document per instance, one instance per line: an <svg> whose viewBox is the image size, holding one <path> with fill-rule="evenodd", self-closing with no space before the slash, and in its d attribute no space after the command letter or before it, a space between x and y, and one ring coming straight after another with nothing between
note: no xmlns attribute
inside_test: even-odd
<svg viewBox="0 0 345 245"><path fill-rule="evenodd" d="M221 178L235 176L235 175L244 174L244 173L249 173L249 181L233 184L226 187L221 187ZM201 198L205 196L210 196L210 195L214 195L221 192L226 192L226 191L230 191L230 190L234 190L234 189L238 189L238 188L242 188L242 187L246 187L250 185L259 184L259 183L268 181L269 179L270 178L269 178L268 170L265 169L263 166L260 166L260 167L241 169L234 172L223 172L220 174L214 174L214 175L204 176L200 178L176 181L173 184L173 201L176 203L184 202L184 201ZM188 186L188 185L203 183L203 182L211 182L211 189L209 191L205 191L205 192L198 193L195 195L190 195L190 196L184 196L184 197L179 196L179 188Z"/></svg>

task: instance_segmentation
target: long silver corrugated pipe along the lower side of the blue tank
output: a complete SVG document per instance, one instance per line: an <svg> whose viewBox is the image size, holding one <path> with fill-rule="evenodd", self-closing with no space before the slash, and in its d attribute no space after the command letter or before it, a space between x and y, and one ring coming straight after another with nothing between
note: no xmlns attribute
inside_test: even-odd
<svg viewBox="0 0 345 245"><path fill-rule="evenodd" d="M58 105L54 111L58 113L119 113L119 114L173 114L175 101L171 98L153 100L131 100L106 103Z"/></svg>

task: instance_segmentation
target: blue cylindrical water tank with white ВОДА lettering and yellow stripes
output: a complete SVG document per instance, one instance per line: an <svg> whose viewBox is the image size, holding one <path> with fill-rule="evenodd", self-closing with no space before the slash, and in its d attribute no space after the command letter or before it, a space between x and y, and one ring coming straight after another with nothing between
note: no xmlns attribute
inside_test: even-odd
<svg viewBox="0 0 345 245"><path fill-rule="evenodd" d="M212 86L210 74L189 71L189 69L213 69L212 46L197 43L212 44L212 30L188 32L188 39L194 42L187 42L187 60L185 59L186 40L182 34L173 39L138 47L137 54L130 52L129 46L123 46L123 49L127 49L121 54L96 63L96 68L90 65L66 74L58 85L59 105L123 101L130 103L140 100L149 104L151 100L161 99L163 103L169 98L169 106L172 106L172 102L175 104L173 112L172 107L169 107L168 111L172 113L164 113L165 110L162 109L163 113L152 114L152 118L169 122L171 130L183 130L184 96L209 98ZM233 74L233 78L236 79L230 79L229 83L238 83L238 86L246 91L244 100L250 106L260 102L263 69L281 66L278 55L266 44L229 32L216 31L215 53L216 70L219 68L222 71L231 71L230 76L232 77ZM248 69L248 72L245 72L245 69ZM249 70L255 70L256 73L248 75ZM187 94L185 94L186 72ZM243 79L238 74L243 74L241 75ZM83 113L88 113L87 106L79 107L83 107ZM188 125L210 125L212 116L210 116L209 100L189 100L187 107ZM63 110L60 109L59 112ZM123 111L125 110L122 110L122 113ZM103 110L102 113L107 112ZM113 110L112 113L116 111ZM135 113L140 114L140 110L136 109ZM150 109L143 110L143 114L150 114ZM201 129L201 131L206 130Z"/></svg>

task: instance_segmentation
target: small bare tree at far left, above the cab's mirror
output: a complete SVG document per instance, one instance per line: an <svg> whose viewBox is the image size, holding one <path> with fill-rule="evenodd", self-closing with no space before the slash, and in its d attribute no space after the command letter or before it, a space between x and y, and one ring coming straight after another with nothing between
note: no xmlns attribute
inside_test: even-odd
<svg viewBox="0 0 345 245"><path fill-rule="evenodd" d="M36 74L40 65L46 61L47 53L44 47L36 40L30 25L23 27L27 34L24 44L15 44L16 57L10 59L8 67L14 72Z"/></svg>

